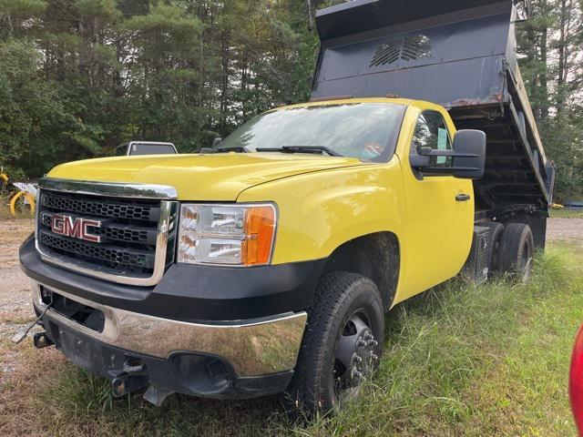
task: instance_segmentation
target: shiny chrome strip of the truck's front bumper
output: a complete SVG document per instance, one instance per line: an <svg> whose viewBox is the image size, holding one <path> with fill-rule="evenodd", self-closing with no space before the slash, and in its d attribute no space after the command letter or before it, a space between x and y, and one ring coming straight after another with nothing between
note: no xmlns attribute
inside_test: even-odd
<svg viewBox="0 0 583 437"><path fill-rule="evenodd" d="M31 281L33 301L36 309L42 311L46 305L41 300L41 285ZM291 371L298 358L307 320L307 314L302 311L249 323L244 320L220 325L188 323L119 310L44 287L105 315L104 329L97 332L52 308L47 310L46 316L62 327L77 330L110 346L162 359L178 351L216 355L229 361L237 376Z"/></svg>

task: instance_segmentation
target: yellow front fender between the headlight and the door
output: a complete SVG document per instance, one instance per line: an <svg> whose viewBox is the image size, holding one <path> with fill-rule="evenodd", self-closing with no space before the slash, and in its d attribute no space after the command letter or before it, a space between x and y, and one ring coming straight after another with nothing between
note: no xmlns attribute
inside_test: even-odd
<svg viewBox="0 0 583 437"><path fill-rule="evenodd" d="M402 232L404 188L396 157L274 180L246 189L237 201L277 204L273 264L324 259L351 239L383 231L398 239Z"/></svg>

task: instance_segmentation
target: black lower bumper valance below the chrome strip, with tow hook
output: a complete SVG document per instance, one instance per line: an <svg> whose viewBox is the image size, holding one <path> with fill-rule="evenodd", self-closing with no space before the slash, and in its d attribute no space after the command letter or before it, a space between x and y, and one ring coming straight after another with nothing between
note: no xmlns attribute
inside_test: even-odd
<svg viewBox="0 0 583 437"><path fill-rule="evenodd" d="M264 376L238 377L228 361L192 352L177 352L167 360L114 348L75 330L43 318L48 339L66 357L83 369L113 381L123 392L147 385L157 390L179 392L219 400L250 399L285 391L293 371ZM128 384L126 386L126 384Z"/></svg>

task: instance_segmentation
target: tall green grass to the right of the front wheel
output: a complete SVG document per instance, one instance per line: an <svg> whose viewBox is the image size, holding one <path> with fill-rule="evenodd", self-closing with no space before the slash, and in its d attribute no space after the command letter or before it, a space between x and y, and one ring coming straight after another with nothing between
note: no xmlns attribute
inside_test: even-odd
<svg viewBox="0 0 583 437"><path fill-rule="evenodd" d="M550 249L537 257L527 286L507 278L477 288L452 281L399 306L368 396L310 432L573 434L566 378L583 319L580 260L572 249ZM547 341L550 332L560 343ZM545 420L534 420L539 415Z"/></svg>

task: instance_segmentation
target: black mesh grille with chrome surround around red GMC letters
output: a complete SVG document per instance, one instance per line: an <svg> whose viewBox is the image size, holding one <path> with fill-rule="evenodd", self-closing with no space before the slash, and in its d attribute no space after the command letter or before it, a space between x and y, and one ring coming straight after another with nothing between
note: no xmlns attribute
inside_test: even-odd
<svg viewBox="0 0 583 437"><path fill-rule="evenodd" d="M36 247L43 259L120 283L156 284L173 261L178 202L164 199L168 196L142 197L145 192L148 196L155 192L157 186L139 186L135 196L120 198L118 192L132 192L128 186L63 181L66 190L58 191L58 180L41 179L39 183ZM166 190L162 194L169 192L168 187L161 188ZM98 242L80 239L75 233L56 233L51 226L55 214L75 223L78 219L98 221L87 228L99 237Z"/></svg>

